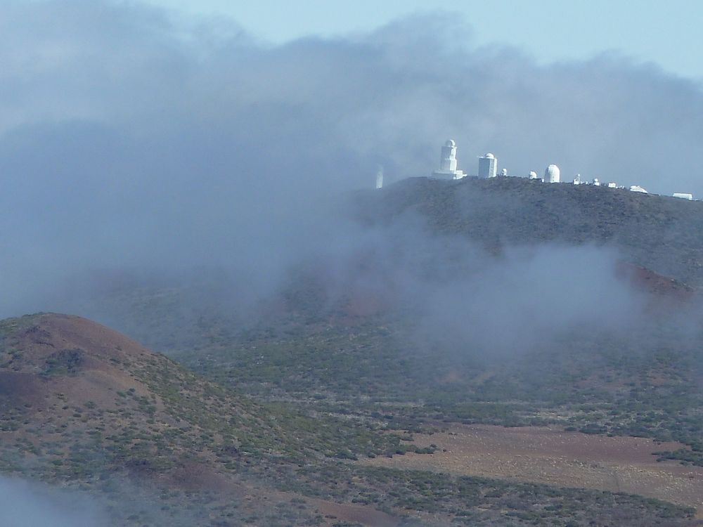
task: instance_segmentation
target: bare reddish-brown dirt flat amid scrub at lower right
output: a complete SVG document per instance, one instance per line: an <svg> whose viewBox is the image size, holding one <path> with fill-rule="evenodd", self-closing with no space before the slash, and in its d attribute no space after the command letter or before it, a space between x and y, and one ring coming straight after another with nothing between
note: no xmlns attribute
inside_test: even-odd
<svg viewBox="0 0 703 527"><path fill-rule="evenodd" d="M657 462L652 455L682 448L679 443L489 425L455 425L446 432L415 435L418 446L431 443L438 447L432 455L408 453L362 462L638 494L695 507L703 518L703 468Z"/></svg>

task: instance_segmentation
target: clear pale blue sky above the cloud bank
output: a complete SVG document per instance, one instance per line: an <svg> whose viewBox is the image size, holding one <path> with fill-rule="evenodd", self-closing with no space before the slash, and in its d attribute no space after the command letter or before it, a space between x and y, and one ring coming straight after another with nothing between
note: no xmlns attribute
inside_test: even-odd
<svg viewBox="0 0 703 527"><path fill-rule="evenodd" d="M364 32L412 13L453 11L471 28L470 46L517 46L542 64L617 51L681 77L703 79L703 1L148 1L188 15L227 15L272 44Z"/></svg>

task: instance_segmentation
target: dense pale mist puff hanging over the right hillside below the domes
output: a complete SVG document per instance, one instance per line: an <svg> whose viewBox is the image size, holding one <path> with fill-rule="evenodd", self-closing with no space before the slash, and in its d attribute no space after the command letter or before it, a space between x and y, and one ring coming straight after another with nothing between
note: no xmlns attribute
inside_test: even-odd
<svg viewBox="0 0 703 527"><path fill-rule="evenodd" d="M626 330L642 295L617 278L617 254L597 247L510 249L477 273L434 289L421 332L445 346L502 357L565 334Z"/></svg>

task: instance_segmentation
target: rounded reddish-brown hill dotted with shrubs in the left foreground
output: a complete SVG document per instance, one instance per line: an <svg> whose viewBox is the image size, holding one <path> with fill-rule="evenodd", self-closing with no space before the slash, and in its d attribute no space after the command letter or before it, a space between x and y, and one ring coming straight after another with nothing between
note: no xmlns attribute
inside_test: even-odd
<svg viewBox="0 0 703 527"><path fill-rule="evenodd" d="M112 496L129 525L155 521L149 502L160 488L173 493L169 521L192 525L203 505L194 498L186 512L183 493L237 490L228 472L273 453L280 438L252 403L67 315L0 322L0 410L1 471Z"/></svg>

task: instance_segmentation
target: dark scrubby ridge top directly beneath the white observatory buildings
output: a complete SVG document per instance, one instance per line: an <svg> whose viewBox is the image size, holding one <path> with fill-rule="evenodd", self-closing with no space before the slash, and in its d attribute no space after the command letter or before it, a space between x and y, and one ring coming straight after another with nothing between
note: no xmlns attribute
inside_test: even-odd
<svg viewBox="0 0 703 527"><path fill-rule="evenodd" d="M416 213L437 233L465 236L493 252L544 242L609 245L636 266L703 285L703 202L497 177L408 178L361 192L355 203L366 225Z"/></svg>

